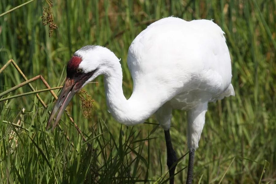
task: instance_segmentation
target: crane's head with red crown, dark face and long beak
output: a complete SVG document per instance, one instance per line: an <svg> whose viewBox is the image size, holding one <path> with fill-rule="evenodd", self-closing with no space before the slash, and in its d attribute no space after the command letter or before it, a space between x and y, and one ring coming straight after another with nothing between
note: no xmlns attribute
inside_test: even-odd
<svg viewBox="0 0 276 184"><path fill-rule="evenodd" d="M70 100L87 83L99 75L109 75L114 66L121 68L119 61L113 52L98 45L87 45L76 51L67 64L67 76L46 128L50 127L51 121L59 111L52 130L56 127Z"/></svg>

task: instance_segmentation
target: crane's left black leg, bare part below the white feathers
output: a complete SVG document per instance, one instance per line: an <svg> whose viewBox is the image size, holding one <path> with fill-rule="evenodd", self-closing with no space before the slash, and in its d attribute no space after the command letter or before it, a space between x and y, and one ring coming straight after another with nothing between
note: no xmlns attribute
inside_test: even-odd
<svg viewBox="0 0 276 184"><path fill-rule="evenodd" d="M167 146L167 166L169 168L169 174L170 174L170 184L174 183L174 170L176 168L177 163L177 157L174 151L174 148L171 144L171 135L170 130L164 130L165 133L165 139L166 139L166 146Z"/></svg>

